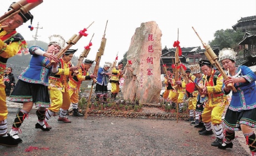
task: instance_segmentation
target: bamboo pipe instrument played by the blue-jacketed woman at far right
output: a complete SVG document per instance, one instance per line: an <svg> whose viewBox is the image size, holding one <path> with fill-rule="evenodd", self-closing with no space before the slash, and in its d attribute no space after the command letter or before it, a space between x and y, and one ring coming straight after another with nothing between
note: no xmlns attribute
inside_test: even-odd
<svg viewBox="0 0 256 156"><path fill-rule="evenodd" d="M195 31L194 27L192 27L192 29ZM195 31L196 32L196 31ZM211 64L214 64L216 66L216 68L218 69L218 71L221 73L221 75L223 76L224 80L229 80L227 74L224 72L224 70L222 69L222 67L220 66L219 62L218 62L218 57L216 56L216 54L213 52L213 49L210 47L210 45L207 45L206 43L203 42L203 40L201 39L201 37L198 35L198 33L196 32L198 38L201 40L201 43L203 44L206 52L205 52L205 56L207 57L207 59L211 62ZM236 88L234 87L234 85L232 83L228 83L227 87L229 89L231 89L233 92L237 92Z"/></svg>

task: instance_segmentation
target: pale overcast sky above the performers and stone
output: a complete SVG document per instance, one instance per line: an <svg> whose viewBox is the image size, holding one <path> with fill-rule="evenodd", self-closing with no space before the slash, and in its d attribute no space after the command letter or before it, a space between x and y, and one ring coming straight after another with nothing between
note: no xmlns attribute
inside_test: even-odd
<svg viewBox="0 0 256 156"><path fill-rule="evenodd" d="M1 15L15 0L2 0ZM16 0L18 1L18 0ZM60 34L68 40L80 30L88 29L72 49L79 56L88 44L92 34L92 46L88 59L95 60L102 35L106 30L106 47L100 64L113 62L117 52L119 60L128 51L131 37L141 23L156 21L162 31L162 48L173 48L177 40L181 47L201 46L192 26L204 42L214 39L217 30L232 29L241 17L256 15L256 0L43 0L31 10L34 15L33 27L38 30L38 40L48 42L48 36ZM36 29L30 31L25 23L17 29L26 40L34 40Z"/></svg>

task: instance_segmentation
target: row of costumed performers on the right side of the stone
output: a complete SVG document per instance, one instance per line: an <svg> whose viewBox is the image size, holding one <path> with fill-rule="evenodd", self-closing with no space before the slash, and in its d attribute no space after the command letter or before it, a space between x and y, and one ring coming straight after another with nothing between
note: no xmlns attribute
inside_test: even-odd
<svg viewBox="0 0 256 156"><path fill-rule="evenodd" d="M182 112L183 97L187 94L190 116L187 121L202 128L199 135L213 135L215 132L216 140L212 146L224 150L233 147L235 131L242 130L252 156L256 156L256 135L253 131L256 128L256 74L249 67L236 64L233 49L224 48L218 58L227 71L228 80L223 79L210 61L201 60L185 70L189 81L198 85L201 93L196 89L188 92L184 75L177 72L175 81L175 73L169 68L163 98L178 104L179 112ZM231 91L230 84L237 92ZM223 119L226 105L228 108Z"/></svg>

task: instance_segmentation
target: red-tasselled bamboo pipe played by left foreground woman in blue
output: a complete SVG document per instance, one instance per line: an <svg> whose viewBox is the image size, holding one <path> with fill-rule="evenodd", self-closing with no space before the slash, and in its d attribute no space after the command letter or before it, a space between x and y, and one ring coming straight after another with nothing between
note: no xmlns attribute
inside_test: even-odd
<svg viewBox="0 0 256 156"><path fill-rule="evenodd" d="M74 34L66 43L68 44L66 47L64 47L63 49L61 49L61 51L56 55L57 59L60 59L60 57L73 45L75 45L78 40L83 37L83 36L87 36L88 34L85 33L85 31L87 31L87 29L94 23L94 21L87 27L84 28L82 31L79 31L79 34ZM46 65L46 67L49 67L50 65L52 65L51 63L48 63Z"/></svg>

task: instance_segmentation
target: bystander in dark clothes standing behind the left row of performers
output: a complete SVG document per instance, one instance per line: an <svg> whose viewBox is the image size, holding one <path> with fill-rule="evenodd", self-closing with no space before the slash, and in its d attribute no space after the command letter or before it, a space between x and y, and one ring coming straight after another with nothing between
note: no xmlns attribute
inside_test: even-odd
<svg viewBox="0 0 256 156"><path fill-rule="evenodd" d="M6 68L6 74L3 76L3 81L5 85L5 94L6 96L9 96L11 93L11 89L14 88L14 85L16 84L15 78L12 72L12 67Z"/></svg>

